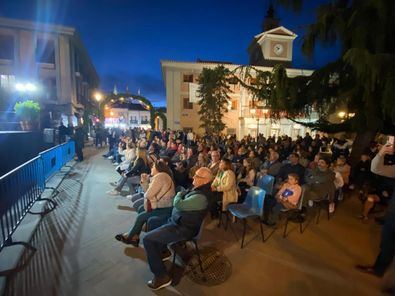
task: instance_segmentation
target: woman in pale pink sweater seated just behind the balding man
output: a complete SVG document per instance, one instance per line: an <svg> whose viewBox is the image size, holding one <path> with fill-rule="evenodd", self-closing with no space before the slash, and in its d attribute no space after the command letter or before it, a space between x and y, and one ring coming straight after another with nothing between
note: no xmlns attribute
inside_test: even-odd
<svg viewBox="0 0 395 296"><path fill-rule="evenodd" d="M156 162L151 171L151 180L142 177L141 186L146 188L144 194L144 207L139 209L136 221L129 232L117 234L115 239L138 247L140 233L144 223L151 217L169 218L173 209L175 186L168 166L164 162Z"/></svg>

